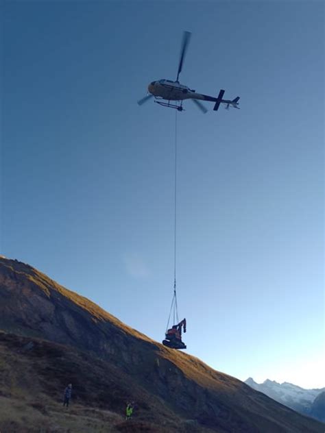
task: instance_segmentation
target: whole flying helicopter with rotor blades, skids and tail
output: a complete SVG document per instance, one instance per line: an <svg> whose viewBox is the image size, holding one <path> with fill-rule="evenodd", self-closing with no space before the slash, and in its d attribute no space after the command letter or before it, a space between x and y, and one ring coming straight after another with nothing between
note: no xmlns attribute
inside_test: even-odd
<svg viewBox="0 0 325 433"><path fill-rule="evenodd" d="M218 110L221 103L226 105L227 110L230 107L239 109L239 96L232 100L222 99L225 92L225 90L223 89L219 91L219 95L217 97L212 97L208 95L202 95L202 93L197 93L195 90L189 88L188 86L180 84L179 77L180 73L182 72L184 57L189 46L190 39L191 32L184 32L180 49L180 62L178 64L176 81L172 81L171 79L158 79L151 82L148 86L149 95L138 101L139 106L142 106L143 103L149 101L149 99L152 99L154 97L154 102L158 103L160 106L176 108L176 110L178 111L184 110L182 106L184 99L191 99L191 101L195 103L197 108L200 108L200 110L204 113L206 113L208 110L200 101L214 102L214 111Z"/></svg>

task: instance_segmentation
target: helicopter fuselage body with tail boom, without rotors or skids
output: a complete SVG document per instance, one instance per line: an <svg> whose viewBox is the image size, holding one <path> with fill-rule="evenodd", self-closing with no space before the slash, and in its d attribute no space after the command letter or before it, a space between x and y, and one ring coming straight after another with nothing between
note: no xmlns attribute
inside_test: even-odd
<svg viewBox="0 0 325 433"><path fill-rule="evenodd" d="M167 99L167 101L182 101L183 99L201 99L202 101L217 101L217 98L202 95L195 90L173 82L170 79L159 79L148 86L149 93L154 97Z"/></svg>

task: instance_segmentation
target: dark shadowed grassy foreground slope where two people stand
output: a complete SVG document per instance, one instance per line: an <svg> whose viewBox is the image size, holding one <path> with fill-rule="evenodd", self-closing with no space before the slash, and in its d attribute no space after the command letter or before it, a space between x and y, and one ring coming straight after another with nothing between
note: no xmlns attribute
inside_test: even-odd
<svg viewBox="0 0 325 433"><path fill-rule="evenodd" d="M62 393L73 384L69 409ZM134 418L125 421L125 403ZM0 432L208 432L127 373L70 347L0 332Z"/></svg>

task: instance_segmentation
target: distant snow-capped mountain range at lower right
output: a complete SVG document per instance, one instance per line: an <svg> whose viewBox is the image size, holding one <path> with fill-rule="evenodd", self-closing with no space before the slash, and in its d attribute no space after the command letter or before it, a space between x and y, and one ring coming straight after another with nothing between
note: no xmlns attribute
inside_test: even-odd
<svg viewBox="0 0 325 433"><path fill-rule="evenodd" d="M245 380L251 388L296 410L320 421L325 421L325 388L304 389L300 386L275 380L265 380L263 384L256 383L252 378Z"/></svg>

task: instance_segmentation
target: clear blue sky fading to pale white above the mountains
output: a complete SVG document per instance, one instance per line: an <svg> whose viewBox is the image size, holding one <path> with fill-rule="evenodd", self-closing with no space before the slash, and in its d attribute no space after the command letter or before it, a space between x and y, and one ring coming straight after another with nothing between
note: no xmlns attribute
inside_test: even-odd
<svg viewBox="0 0 325 433"><path fill-rule="evenodd" d="M324 4L4 2L1 251L161 341L173 293L180 77L241 110L178 114L188 352L245 380L325 386Z"/></svg>

